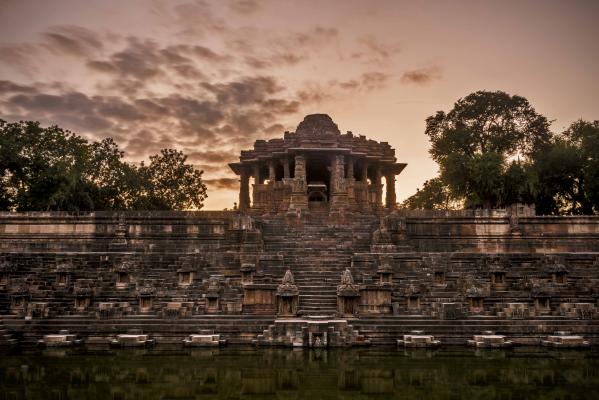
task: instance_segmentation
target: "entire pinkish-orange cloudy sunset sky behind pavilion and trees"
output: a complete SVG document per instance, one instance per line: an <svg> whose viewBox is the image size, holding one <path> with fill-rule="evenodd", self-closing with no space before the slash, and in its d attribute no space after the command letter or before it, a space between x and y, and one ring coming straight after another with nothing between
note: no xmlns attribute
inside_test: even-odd
<svg viewBox="0 0 599 400"><path fill-rule="evenodd" d="M559 132L599 119L599 1L0 0L0 118L176 148L230 208L227 164L306 114L387 141L401 201L437 174L425 120L477 90Z"/></svg>

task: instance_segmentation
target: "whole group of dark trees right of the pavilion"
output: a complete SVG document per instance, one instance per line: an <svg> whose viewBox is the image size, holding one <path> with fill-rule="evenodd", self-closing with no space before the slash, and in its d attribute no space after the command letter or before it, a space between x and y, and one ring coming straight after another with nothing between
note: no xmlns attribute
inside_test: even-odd
<svg viewBox="0 0 599 400"><path fill-rule="evenodd" d="M479 91L427 118L425 133L439 176L403 208L526 203L542 215L599 213L599 121L552 133L524 97Z"/></svg>

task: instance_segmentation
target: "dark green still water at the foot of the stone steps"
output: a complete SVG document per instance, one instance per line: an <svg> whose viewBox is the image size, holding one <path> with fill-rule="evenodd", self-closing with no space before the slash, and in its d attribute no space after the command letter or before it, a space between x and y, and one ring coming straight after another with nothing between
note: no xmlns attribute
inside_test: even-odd
<svg viewBox="0 0 599 400"><path fill-rule="evenodd" d="M592 399L590 351L223 348L4 354L4 399Z"/></svg>

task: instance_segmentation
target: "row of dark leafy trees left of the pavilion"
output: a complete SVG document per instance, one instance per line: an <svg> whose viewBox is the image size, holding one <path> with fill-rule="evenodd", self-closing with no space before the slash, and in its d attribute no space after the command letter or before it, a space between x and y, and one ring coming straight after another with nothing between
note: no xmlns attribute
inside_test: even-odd
<svg viewBox="0 0 599 400"><path fill-rule="evenodd" d="M186 159L164 149L134 165L112 139L90 143L57 126L0 120L0 210L200 209L203 171Z"/></svg>

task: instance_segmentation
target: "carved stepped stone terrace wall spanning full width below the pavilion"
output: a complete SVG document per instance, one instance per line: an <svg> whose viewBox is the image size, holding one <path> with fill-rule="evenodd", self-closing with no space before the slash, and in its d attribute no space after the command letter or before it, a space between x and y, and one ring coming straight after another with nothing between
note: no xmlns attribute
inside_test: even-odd
<svg viewBox="0 0 599 400"><path fill-rule="evenodd" d="M65 327L176 343L199 326L249 343L277 318L286 270L309 316L335 312L347 268L359 297L344 317L374 343L485 327L599 339L599 217L0 213L0 320L25 343Z"/></svg>

